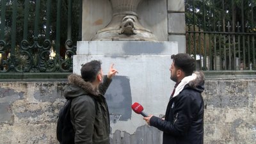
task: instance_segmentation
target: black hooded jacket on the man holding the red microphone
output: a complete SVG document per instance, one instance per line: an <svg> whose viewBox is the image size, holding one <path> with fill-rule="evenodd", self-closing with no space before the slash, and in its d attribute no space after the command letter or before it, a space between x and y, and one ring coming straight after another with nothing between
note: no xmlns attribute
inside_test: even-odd
<svg viewBox="0 0 256 144"><path fill-rule="evenodd" d="M150 125L163 131L163 144L204 143L204 74L195 74L196 79L170 99L164 120L150 118Z"/></svg>

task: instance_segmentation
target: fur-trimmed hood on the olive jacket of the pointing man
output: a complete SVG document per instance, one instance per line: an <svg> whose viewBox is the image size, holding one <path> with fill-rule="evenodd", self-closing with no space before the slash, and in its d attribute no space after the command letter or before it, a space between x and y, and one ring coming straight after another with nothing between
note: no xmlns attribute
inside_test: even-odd
<svg viewBox="0 0 256 144"><path fill-rule="evenodd" d="M97 89L93 88L92 83L86 82L77 74L70 74L68 76L68 85L64 90L64 97L66 99L78 97L80 95L99 95Z"/></svg>

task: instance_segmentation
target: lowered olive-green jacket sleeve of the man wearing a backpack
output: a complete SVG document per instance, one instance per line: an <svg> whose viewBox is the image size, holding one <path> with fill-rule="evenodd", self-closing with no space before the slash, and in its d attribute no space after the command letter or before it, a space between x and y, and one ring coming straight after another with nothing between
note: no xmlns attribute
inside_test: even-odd
<svg viewBox="0 0 256 144"><path fill-rule="evenodd" d="M75 143L92 144L93 124L95 122L95 102L91 97L77 97L72 100L75 120Z"/></svg>

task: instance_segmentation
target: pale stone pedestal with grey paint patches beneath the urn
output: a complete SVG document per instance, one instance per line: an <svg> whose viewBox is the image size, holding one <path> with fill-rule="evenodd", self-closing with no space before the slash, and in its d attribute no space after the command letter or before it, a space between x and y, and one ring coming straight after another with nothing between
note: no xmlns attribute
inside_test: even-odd
<svg viewBox="0 0 256 144"><path fill-rule="evenodd" d="M136 133L147 125L131 105L139 102L145 112L163 115L174 83L170 80L171 55L177 54L177 42L81 41L74 56L74 73L83 63L101 60L104 74L111 63L118 70L106 93L111 113L111 133ZM159 138L161 138L159 136Z"/></svg>

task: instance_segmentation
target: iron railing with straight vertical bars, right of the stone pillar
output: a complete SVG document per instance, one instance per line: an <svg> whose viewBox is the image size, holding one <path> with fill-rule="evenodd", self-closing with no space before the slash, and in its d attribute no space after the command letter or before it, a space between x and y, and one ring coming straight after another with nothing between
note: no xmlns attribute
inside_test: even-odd
<svg viewBox="0 0 256 144"><path fill-rule="evenodd" d="M252 0L187 0L186 47L201 70L256 70Z"/></svg>

